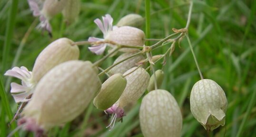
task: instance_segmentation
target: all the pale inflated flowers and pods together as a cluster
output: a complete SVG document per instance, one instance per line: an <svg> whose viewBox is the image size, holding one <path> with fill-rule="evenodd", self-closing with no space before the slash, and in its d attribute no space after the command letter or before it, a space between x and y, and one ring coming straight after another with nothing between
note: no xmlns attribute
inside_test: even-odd
<svg viewBox="0 0 256 137"><path fill-rule="evenodd" d="M41 25L48 31L51 29L49 18L59 11L69 20L78 14L77 10L73 11L77 3L70 4L69 0L44 0L42 6L38 5L39 1L28 1L33 15L40 16ZM68 15L69 10L72 15ZM112 116L107 126L111 130L118 119L126 116L125 107L136 103L148 91L139 110L144 137L180 137L182 113L174 96L160 89L165 74L160 69L155 71L154 64L172 53L175 42L187 31L177 31L180 37L173 41L168 41L170 37L167 37L153 46L145 46L145 34L137 28L141 21L142 17L135 14L120 19L117 26L113 26L113 18L108 14L102 21L95 19L103 38L89 37L86 41L92 45L89 50L100 55L109 47L114 52L94 64L79 60L79 42L59 38L38 55L32 72L24 66L8 70L5 75L21 80L21 84L11 83L10 92L15 102L28 102L18 125L41 137L50 128L75 119L93 100L97 109ZM162 46L164 42L173 44L165 54L153 56L154 47ZM119 55L114 63L101 69L99 65L113 54ZM151 77L149 70L152 70ZM99 76L104 73L108 78L101 82ZM204 128L213 130L225 124L226 95L216 82L201 78L191 91L191 112Z"/></svg>

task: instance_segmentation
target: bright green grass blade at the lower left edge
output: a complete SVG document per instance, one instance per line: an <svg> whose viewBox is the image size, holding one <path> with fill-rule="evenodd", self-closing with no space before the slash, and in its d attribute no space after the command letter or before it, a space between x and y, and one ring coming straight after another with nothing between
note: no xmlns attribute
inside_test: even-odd
<svg viewBox="0 0 256 137"><path fill-rule="evenodd" d="M13 113L11 111L10 102L8 100L8 97L7 97L4 87L3 87L3 79L2 79L1 75L0 75L0 97L1 97L2 107L5 110L5 113L7 114L9 121L11 121L11 119L13 117ZM4 116L2 116L2 117L4 117ZM16 123L12 122L10 124L10 127L12 130L14 130L16 128ZM17 132L14 135L15 135L15 137L19 137L19 134Z"/></svg>

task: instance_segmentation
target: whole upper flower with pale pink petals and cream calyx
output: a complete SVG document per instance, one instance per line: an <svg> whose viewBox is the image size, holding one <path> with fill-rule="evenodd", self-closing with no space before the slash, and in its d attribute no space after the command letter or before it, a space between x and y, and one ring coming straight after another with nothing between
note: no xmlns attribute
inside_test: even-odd
<svg viewBox="0 0 256 137"><path fill-rule="evenodd" d="M136 27L122 26L117 27L113 26L113 18L110 15L102 17L100 19L95 19L94 22L97 24L99 29L103 33L103 39L97 37L89 37L88 41L92 43L92 46L89 47L89 50L97 55L100 55L104 52L107 46L143 46L145 42L145 34L142 30ZM122 52L135 52L138 51L136 48L123 48L119 51Z"/></svg>

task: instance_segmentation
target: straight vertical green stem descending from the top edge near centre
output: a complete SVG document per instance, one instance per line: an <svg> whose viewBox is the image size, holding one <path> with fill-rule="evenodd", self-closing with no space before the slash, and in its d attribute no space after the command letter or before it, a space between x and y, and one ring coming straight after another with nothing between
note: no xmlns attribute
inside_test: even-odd
<svg viewBox="0 0 256 137"><path fill-rule="evenodd" d="M150 37L150 0L145 0L145 17L146 17L146 38ZM146 41L146 46L149 46L150 42Z"/></svg>

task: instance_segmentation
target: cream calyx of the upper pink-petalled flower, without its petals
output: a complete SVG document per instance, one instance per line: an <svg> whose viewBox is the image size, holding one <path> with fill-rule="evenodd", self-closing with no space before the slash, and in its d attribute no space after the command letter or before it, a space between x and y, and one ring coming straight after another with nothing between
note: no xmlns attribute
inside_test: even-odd
<svg viewBox="0 0 256 137"><path fill-rule="evenodd" d="M117 45L125 46L143 46L145 43L145 34L142 30L136 27L118 27L108 33L105 40L112 41ZM134 52L138 49L134 48L122 48L119 51L122 52Z"/></svg>

